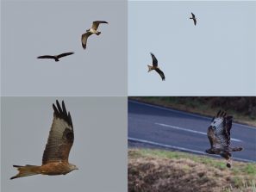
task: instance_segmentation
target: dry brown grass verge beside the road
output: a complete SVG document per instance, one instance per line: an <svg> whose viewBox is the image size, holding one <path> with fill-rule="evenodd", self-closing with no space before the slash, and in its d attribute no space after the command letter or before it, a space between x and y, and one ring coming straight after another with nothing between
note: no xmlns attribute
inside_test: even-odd
<svg viewBox="0 0 256 192"><path fill-rule="evenodd" d="M166 155L163 155L165 154ZM253 191L253 187L246 187L244 183L256 181L255 174L243 172L245 163L234 162L236 169L222 166L222 160L210 158L201 161L202 157L184 155L178 157L178 152L158 150L128 151L128 191L148 192L215 192L215 191ZM196 158L192 158L195 156ZM166 158L168 157L168 158ZM216 161L216 164L213 163ZM253 170L256 165L253 164ZM239 170L237 170L239 167ZM234 172L236 171L236 172Z"/></svg>

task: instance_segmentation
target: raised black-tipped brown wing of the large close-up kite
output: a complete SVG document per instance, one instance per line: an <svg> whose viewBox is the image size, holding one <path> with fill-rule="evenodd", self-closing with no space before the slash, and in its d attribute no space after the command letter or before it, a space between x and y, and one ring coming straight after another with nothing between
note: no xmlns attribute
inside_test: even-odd
<svg viewBox="0 0 256 192"><path fill-rule="evenodd" d="M47 140L42 164L50 162L68 162L69 152L74 141L72 117L66 112L65 103L62 101L62 108L56 101L57 107L53 104L53 124Z"/></svg>

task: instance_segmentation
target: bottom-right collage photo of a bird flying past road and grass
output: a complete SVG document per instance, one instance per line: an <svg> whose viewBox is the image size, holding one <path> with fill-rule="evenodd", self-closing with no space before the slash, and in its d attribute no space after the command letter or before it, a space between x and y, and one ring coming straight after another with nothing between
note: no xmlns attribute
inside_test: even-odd
<svg viewBox="0 0 256 192"><path fill-rule="evenodd" d="M128 191L254 191L256 97L128 98Z"/></svg>

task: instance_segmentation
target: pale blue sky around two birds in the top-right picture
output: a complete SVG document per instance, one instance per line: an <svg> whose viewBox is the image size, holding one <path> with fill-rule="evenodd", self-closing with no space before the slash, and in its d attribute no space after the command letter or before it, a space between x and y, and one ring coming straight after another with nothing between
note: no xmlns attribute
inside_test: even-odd
<svg viewBox="0 0 256 192"><path fill-rule="evenodd" d="M255 96L255 34L256 2L129 2L128 95Z"/></svg>

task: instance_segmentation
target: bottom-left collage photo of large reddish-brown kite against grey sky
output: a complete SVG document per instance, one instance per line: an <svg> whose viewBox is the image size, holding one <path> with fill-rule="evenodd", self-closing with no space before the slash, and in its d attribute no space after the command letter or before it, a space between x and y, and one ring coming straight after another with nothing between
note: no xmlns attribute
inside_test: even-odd
<svg viewBox="0 0 256 192"><path fill-rule="evenodd" d="M7 96L1 118L1 191L127 190L126 97ZM57 169L72 142L76 167Z"/></svg>

